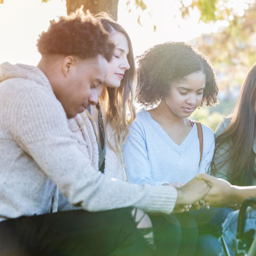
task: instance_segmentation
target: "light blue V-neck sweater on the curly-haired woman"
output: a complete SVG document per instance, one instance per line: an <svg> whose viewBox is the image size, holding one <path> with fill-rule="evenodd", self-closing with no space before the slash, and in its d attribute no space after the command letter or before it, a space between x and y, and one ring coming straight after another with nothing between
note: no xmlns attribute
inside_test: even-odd
<svg viewBox="0 0 256 256"><path fill-rule="evenodd" d="M131 183L159 186L171 182L188 182L197 173L205 173L214 153L214 133L202 124L203 155L200 165L199 140L194 125L177 145L162 127L142 109L130 127L124 145L125 164Z"/></svg>

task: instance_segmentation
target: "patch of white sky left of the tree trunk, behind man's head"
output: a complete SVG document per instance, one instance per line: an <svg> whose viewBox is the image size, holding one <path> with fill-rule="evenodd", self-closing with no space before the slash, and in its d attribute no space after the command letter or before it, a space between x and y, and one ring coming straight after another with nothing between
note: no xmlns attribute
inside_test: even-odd
<svg viewBox="0 0 256 256"><path fill-rule="evenodd" d="M36 49L38 35L60 15L66 15L65 1L4 1L0 5L0 63L37 65L41 57Z"/></svg>

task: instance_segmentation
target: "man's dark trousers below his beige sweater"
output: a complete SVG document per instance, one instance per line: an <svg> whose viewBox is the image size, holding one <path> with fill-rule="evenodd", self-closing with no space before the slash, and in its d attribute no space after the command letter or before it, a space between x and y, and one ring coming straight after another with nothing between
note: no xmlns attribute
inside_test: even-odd
<svg viewBox="0 0 256 256"><path fill-rule="evenodd" d="M66 211L0 222L0 255L151 255L132 208Z"/></svg>

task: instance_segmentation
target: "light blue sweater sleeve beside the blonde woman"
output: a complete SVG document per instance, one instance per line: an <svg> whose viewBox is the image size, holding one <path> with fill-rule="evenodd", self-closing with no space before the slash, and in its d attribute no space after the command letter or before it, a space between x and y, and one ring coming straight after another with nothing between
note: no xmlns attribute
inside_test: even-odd
<svg viewBox="0 0 256 256"><path fill-rule="evenodd" d="M130 183L138 185L147 183L152 186L170 183L153 180L151 165L148 159L146 131L138 119L130 126L129 136L124 145L124 157L127 177Z"/></svg>

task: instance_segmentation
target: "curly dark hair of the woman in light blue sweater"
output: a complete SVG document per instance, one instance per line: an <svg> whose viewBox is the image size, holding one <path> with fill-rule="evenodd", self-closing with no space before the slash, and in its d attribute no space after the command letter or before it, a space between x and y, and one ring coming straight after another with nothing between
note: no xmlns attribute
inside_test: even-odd
<svg viewBox="0 0 256 256"><path fill-rule="evenodd" d="M182 42L158 44L140 55L135 98L144 106L154 106L169 94L171 83L202 71L206 82L203 100L206 106L217 103L218 86L209 61Z"/></svg>

